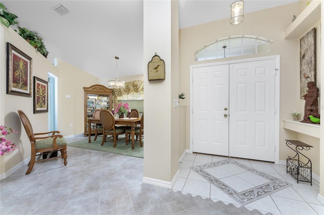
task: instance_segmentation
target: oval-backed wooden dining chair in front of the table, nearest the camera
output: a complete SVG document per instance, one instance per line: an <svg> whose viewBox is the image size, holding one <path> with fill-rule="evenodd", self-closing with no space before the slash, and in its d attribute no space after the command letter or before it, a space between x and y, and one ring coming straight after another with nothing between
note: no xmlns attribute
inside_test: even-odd
<svg viewBox="0 0 324 215"><path fill-rule="evenodd" d="M105 109L100 110L100 122L103 126L101 145L106 141L107 135L111 135L113 137L113 147L115 148L117 136L125 134L126 129L116 127L114 116L110 111Z"/></svg>

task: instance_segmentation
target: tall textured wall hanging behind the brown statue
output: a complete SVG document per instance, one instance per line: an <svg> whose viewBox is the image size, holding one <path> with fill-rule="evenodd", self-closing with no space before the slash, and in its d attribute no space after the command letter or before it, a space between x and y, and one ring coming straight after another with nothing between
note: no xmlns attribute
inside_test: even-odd
<svg viewBox="0 0 324 215"><path fill-rule="evenodd" d="M300 98L307 93L307 83L316 83L316 29L300 39Z"/></svg>

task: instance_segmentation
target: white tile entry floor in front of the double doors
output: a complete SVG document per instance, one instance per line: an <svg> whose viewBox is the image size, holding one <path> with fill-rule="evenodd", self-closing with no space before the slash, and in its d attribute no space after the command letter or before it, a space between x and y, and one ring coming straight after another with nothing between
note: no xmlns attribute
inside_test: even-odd
<svg viewBox="0 0 324 215"><path fill-rule="evenodd" d="M226 193L190 169L190 167L193 166L224 159L229 158L207 154L187 153L179 164L180 174L172 189L174 191L199 195L203 198L211 198L214 201L220 200L224 203L233 203L236 206L241 206ZM297 181L286 173L286 166L259 162L256 160L230 159L234 159L236 162L292 184L292 186L246 204L245 207L248 209L258 209L262 213L270 212L272 214L324 214L324 206L316 199L319 187L314 183L312 186L310 183L304 182L299 182L297 184ZM242 171L241 168L235 165L214 167L206 171L222 180L222 182L234 188L236 191L250 189L253 186L266 182L264 178L258 177L250 172Z"/></svg>

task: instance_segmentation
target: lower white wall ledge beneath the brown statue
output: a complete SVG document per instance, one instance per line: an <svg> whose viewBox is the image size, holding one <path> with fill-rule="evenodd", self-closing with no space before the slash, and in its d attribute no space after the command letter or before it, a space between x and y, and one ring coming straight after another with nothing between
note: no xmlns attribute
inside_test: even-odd
<svg viewBox="0 0 324 215"><path fill-rule="evenodd" d="M319 138L320 136L320 125L318 124L300 123L300 122L290 121L290 120L282 120L282 121L284 121L285 129L289 129L316 138Z"/></svg>

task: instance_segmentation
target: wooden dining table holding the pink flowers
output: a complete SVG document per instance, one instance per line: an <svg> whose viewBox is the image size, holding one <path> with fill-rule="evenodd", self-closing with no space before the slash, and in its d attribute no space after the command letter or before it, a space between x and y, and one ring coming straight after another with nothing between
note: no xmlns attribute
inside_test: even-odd
<svg viewBox="0 0 324 215"><path fill-rule="evenodd" d="M88 134L89 134L89 143L91 143L91 124L101 124L100 119L88 119ZM131 126L131 135L132 135L132 149L134 149L134 137L135 137L135 127L136 125L141 124L141 118L132 117L132 118L118 118L115 117L115 126L116 125L126 125Z"/></svg>

